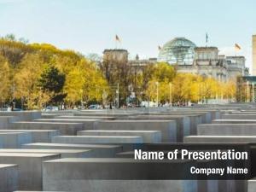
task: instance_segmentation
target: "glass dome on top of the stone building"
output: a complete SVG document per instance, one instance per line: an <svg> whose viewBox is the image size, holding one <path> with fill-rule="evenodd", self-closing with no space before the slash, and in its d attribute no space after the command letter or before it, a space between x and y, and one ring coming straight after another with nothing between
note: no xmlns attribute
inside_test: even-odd
<svg viewBox="0 0 256 192"><path fill-rule="evenodd" d="M186 38L174 38L160 49L158 61L170 64L192 65L196 45Z"/></svg>

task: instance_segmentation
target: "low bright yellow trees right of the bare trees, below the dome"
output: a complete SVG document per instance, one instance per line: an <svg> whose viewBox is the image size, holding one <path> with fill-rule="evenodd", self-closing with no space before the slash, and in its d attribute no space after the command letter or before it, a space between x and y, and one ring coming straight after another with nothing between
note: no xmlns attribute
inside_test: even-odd
<svg viewBox="0 0 256 192"><path fill-rule="evenodd" d="M177 73L172 81L152 79L147 91L148 96L154 101L158 95L161 103L170 100L171 102L207 102L209 99L234 99L236 83L232 81L223 83L200 75Z"/></svg>

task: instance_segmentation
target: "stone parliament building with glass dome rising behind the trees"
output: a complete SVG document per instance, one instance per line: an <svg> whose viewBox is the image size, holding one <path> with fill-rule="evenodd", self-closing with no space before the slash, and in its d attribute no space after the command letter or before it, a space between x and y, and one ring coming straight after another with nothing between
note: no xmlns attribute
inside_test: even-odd
<svg viewBox="0 0 256 192"><path fill-rule="evenodd" d="M136 72L148 64L164 61L175 66L177 72L200 74L220 81L248 75L244 56L218 55L217 47L196 47L186 38L172 39L160 49L158 58L148 60L140 60L138 55L135 60L128 60L128 51L125 49L105 49L103 54L103 61L109 58L125 61Z"/></svg>

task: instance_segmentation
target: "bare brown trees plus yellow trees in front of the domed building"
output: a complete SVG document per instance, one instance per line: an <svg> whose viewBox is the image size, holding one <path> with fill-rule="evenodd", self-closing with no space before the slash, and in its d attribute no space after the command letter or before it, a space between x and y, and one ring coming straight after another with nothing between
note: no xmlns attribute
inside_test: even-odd
<svg viewBox="0 0 256 192"><path fill-rule="evenodd" d="M236 82L219 82L192 73L177 73L175 66L165 62L132 66L128 61L102 62L102 72L108 74L108 84L119 84L120 103L135 93L136 101L207 102L209 99L234 99ZM126 98L126 99L125 99Z"/></svg>

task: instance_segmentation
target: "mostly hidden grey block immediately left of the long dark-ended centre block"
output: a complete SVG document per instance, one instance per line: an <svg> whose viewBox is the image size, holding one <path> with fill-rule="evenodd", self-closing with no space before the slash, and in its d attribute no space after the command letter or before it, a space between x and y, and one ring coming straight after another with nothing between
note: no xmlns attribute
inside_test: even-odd
<svg viewBox="0 0 256 192"><path fill-rule="evenodd" d="M84 125L84 130L93 129L93 124L98 119L35 119L36 122L61 122L61 123L81 123Z"/></svg>

